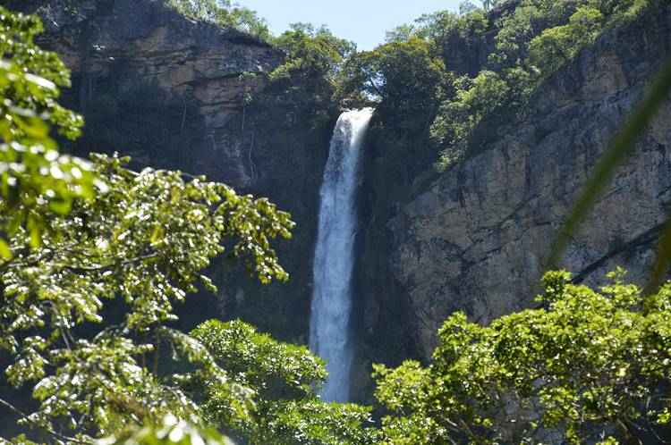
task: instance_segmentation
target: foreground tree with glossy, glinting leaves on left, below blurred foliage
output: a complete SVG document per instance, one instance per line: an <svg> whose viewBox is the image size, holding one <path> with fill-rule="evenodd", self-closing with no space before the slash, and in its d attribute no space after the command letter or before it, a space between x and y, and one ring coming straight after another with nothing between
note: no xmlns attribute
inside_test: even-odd
<svg viewBox="0 0 671 445"><path fill-rule="evenodd" d="M243 416L236 399L244 392L198 342L166 326L196 284L215 290L200 271L224 244L260 281L285 279L269 241L289 236L288 215L179 172L136 173L103 156L94 165L108 191L75 203L39 248L19 231L2 264L0 346L13 357L6 375L17 388L32 386L39 402L23 420L55 431L69 419L73 436L95 437L147 416L198 413L179 378L157 374L166 345ZM110 324L103 310L118 298L126 310Z"/></svg>

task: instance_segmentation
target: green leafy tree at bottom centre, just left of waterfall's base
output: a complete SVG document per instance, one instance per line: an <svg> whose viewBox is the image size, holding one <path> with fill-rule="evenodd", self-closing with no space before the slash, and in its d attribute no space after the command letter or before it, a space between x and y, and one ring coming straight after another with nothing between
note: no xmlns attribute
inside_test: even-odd
<svg viewBox="0 0 671 445"><path fill-rule="evenodd" d="M206 388L206 418L251 445L365 445L376 443L370 410L352 404L325 403L315 392L327 373L319 357L305 347L280 343L247 323L201 324L192 335L236 383L253 391L251 416L239 422L227 403Z"/></svg>

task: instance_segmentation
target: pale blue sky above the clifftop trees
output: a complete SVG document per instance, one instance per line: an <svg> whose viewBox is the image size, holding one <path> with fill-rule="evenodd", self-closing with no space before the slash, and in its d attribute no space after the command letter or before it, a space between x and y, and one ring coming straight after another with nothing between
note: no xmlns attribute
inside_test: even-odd
<svg viewBox="0 0 671 445"><path fill-rule="evenodd" d="M284 31L296 21L326 24L336 36L352 40L365 50L383 42L386 30L423 13L456 11L461 0L238 0L237 3L257 11L274 33Z"/></svg>

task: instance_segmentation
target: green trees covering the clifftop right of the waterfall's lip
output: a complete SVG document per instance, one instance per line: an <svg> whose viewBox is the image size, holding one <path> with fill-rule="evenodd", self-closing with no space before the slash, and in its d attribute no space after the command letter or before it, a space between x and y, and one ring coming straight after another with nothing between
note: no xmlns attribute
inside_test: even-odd
<svg viewBox="0 0 671 445"><path fill-rule="evenodd" d="M390 31L385 45L352 55L341 95L378 102L389 129L410 122L423 130L444 171L480 149L471 144L474 133L491 130L500 116L523 114L543 80L605 29L654 4L514 0L497 2L492 13L471 5L425 15ZM400 90L405 95L394 94ZM407 121L410 114L420 118Z"/></svg>

